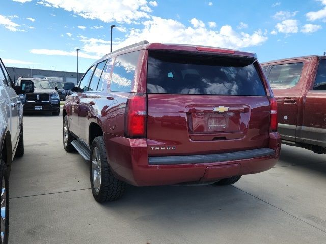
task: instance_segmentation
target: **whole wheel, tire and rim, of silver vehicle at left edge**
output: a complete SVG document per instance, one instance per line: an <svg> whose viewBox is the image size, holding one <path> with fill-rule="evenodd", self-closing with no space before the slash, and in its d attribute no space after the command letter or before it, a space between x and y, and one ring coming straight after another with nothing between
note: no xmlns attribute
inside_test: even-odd
<svg viewBox="0 0 326 244"><path fill-rule="evenodd" d="M5 173L6 165L3 160L0 162L0 186L1 186L1 217L0 217L0 232L2 244L8 243L9 235L9 185L8 176Z"/></svg>

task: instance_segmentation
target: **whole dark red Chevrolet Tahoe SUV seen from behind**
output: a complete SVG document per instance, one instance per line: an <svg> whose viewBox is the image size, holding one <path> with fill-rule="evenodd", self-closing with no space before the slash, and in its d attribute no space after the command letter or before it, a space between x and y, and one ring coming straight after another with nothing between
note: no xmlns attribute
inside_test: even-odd
<svg viewBox="0 0 326 244"><path fill-rule="evenodd" d="M144 41L105 55L63 108L63 145L99 202L125 183L227 185L273 167L276 100L256 54Z"/></svg>

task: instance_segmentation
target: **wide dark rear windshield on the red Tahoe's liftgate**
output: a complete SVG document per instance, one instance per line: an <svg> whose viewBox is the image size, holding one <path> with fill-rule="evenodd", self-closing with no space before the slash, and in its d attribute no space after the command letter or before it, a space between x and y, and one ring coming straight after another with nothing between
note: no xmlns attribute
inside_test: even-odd
<svg viewBox="0 0 326 244"><path fill-rule="evenodd" d="M265 96L254 59L150 51L147 92Z"/></svg>

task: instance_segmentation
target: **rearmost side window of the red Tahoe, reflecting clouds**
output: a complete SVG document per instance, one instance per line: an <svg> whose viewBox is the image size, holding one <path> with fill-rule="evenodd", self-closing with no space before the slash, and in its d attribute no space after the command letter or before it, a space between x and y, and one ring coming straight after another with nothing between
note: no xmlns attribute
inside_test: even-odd
<svg viewBox="0 0 326 244"><path fill-rule="evenodd" d="M112 72L110 90L115 92L131 91L138 56L139 51L117 56Z"/></svg>

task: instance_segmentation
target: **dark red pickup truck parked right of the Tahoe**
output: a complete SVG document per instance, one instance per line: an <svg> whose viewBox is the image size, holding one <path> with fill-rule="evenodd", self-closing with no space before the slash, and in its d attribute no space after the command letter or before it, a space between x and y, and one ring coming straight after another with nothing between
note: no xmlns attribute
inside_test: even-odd
<svg viewBox="0 0 326 244"><path fill-rule="evenodd" d="M284 144L326 152L326 57L306 56L262 64L278 101Z"/></svg>

